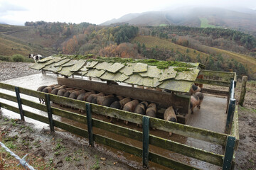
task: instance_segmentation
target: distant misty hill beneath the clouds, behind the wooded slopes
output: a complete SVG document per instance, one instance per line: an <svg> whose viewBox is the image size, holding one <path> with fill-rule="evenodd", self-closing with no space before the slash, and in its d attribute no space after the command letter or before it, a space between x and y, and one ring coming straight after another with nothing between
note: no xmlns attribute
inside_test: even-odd
<svg viewBox="0 0 256 170"><path fill-rule="evenodd" d="M230 28L256 36L256 12L247 8L177 8L171 11L149 11L130 13L118 19L106 21L102 26L112 23L129 23L138 26L193 26Z"/></svg>

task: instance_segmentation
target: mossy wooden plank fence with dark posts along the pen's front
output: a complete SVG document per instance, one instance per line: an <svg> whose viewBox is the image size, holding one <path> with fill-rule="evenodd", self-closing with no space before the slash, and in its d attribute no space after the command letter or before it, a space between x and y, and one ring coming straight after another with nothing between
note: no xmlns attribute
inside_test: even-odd
<svg viewBox="0 0 256 170"><path fill-rule="evenodd" d="M9 91L16 91L16 96L9 94L4 94L0 92L0 98L4 98L8 101L14 101L18 103L18 107L11 106L6 102L0 101L0 107L6 108L14 113L19 113L21 115L21 120L25 120L24 116L32 118L34 120L41 121L50 125L50 130L54 131L54 127L67 130L68 132L73 132L76 135L82 137L87 137L89 139L90 145L94 142L98 142L103 145L113 147L114 149L119 149L129 154L134 154L137 157L142 157L143 166L148 166L148 162L155 162L156 164L161 164L162 166L169 167L171 169L198 169L196 167L178 162L174 159L164 157L160 154L149 152L149 144L156 147L161 147L163 149L168 149L171 152L176 152L178 154L183 154L187 157L201 160L203 162L208 162L217 166L222 166L223 169L233 169L235 164L234 154L235 149L238 146L238 107L235 107L233 111L233 123L230 123L230 135L213 132L210 130L203 130L201 128L194 128L189 125L182 125L179 123L172 123L170 121L165 121L157 118L149 118L147 116L139 115L136 113L129 113L127 111L120 111L114 108L109 108L105 106L99 106L92 103L86 103L84 101L73 100L70 98L65 98L62 96L56 96L52 94L44 94L42 92L33 91L29 89L24 89L21 87L12 86L9 84L0 83L0 89L6 89ZM46 105L41 103L36 103L34 101L21 98L20 94L26 94L28 96L33 96L36 98L45 98ZM79 108L80 110L86 111L87 116L80 115L77 113L72 113L70 111L64 111L60 108L55 108L50 105L50 101L55 103L63 103L67 106L73 106ZM22 106L29 106L36 108L40 111L48 113L48 117L32 113L31 111L26 111ZM231 110L230 110L231 111ZM114 125L112 123L107 123L102 120L97 120L92 118L92 113L97 113L100 115L108 115L113 118L119 118L122 120L128 120L132 123L139 123L143 125L143 132L137 130L131 130L129 128L124 128L119 125ZM74 120L78 123L84 123L87 125L87 130L75 127L74 125L69 125L68 123L63 123L58 120L54 120L52 115L58 115L62 118L68 118ZM100 128L102 130L107 130L113 132L117 135L122 135L124 137L129 137L133 140L138 140L143 143L143 147L134 147L127 145L123 142L110 139L99 134L92 132L92 126L95 128ZM198 149L196 147L191 147L188 145L183 145L178 142L171 140L162 139L149 134L149 127L156 128L158 130L164 130L166 132L174 132L178 135L183 135L185 137L192 137L198 140L203 140L206 142L211 142L217 145L222 145L225 147L225 154L215 154L213 152L208 152L203 149Z"/></svg>

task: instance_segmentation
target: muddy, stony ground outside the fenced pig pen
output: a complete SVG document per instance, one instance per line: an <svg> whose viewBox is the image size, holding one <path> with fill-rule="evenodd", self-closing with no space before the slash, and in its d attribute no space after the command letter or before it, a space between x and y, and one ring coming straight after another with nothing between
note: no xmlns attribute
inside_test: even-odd
<svg viewBox="0 0 256 170"><path fill-rule="evenodd" d="M38 71L28 68L28 63L0 62L0 81L37 73ZM239 83L235 94L238 101ZM256 169L255 86L247 86L244 107L239 107L239 126L240 144L236 152L235 169ZM141 169L142 167L137 162L127 162L121 154L112 154L100 145L87 147L85 138L68 134L60 129L50 134L48 129L38 130L33 128L33 124L0 116L0 131L2 142L5 142L4 140L9 142L8 140L11 139L17 147L25 151L24 153L41 157L43 169L52 169L51 167L54 169ZM4 155L0 156L4 157Z"/></svg>

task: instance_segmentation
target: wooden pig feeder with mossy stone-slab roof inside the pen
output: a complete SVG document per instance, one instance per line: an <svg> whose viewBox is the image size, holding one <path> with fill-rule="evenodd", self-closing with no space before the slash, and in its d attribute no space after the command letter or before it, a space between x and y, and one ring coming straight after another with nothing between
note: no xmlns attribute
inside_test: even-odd
<svg viewBox="0 0 256 170"><path fill-rule="evenodd" d="M119 62L108 62L110 60L104 59L110 59L110 57L100 57L100 59L95 60L74 60L68 57L50 56L39 60L31 68L63 75L65 78L58 77L58 84L157 103L159 107L157 116L160 118L163 117L164 109L173 106L178 108L178 122L186 124L191 115L189 108L191 94L188 92L198 74L204 69L202 64L165 62L169 65L159 68L153 62L144 62L149 60L129 60L127 62L127 60L119 58ZM152 61L164 63L164 61ZM90 79L93 77L101 81L76 79L74 75L90 77ZM121 84L157 88L169 92L139 89L132 86L108 85L104 81L117 81Z"/></svg>

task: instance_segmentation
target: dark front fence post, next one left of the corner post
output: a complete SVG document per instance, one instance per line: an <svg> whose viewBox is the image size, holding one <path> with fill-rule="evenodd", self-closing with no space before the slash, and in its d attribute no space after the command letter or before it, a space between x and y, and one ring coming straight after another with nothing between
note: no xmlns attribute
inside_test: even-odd
<svg viewBox="0 0 256 170"><path fill-rule="evenodd" d="M149 164L149 117L143 116L142 118L142 125L143 125L143 166L146 168Z"/></svg>

